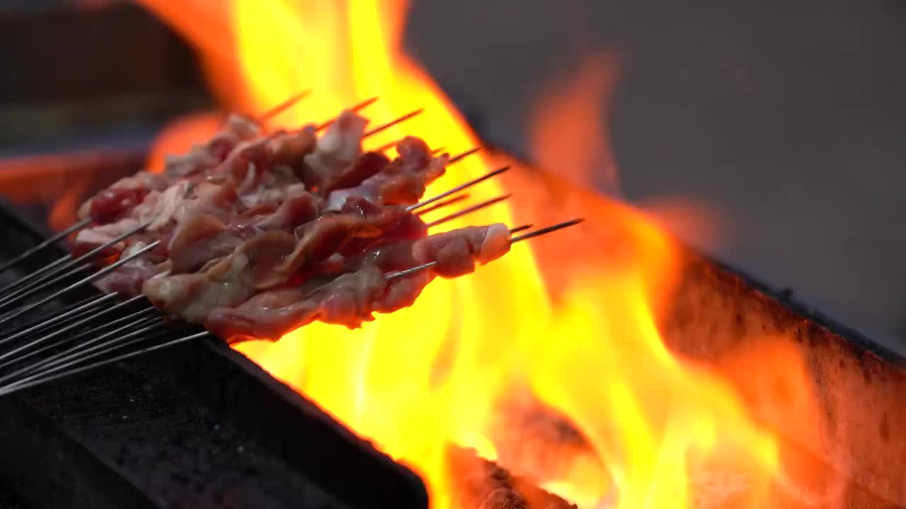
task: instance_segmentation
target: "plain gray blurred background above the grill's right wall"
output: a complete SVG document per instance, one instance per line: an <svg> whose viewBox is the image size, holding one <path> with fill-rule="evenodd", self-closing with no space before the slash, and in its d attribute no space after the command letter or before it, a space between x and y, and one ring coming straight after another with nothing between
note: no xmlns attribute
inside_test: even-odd
<svg viewBox="0 0 906 509"><path fill-rule="evenodd" d="M715 255L906 351L906 3L421 0L408 45L513 143L613 48L624 196L717 211Z"/></svg>

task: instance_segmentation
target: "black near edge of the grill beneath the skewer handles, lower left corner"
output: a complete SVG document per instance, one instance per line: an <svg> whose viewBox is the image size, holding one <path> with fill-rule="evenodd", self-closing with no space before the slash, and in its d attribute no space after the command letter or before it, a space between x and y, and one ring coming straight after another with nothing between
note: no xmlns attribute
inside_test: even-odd
<svg viewBox="0 0 906 509"><path fill-rule="evenodd" d="M4 259L42 238L5 204L0 225ZM0 399L0 415L0 486L29 506L427 506L417 475L220 341Z"/></svg>

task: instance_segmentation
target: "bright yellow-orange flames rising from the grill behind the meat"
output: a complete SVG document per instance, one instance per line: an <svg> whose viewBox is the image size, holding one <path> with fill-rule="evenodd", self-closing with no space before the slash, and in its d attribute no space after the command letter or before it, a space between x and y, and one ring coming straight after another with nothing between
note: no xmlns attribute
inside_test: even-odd
<svg viewBox="0 0 906 509"><path fill-rule="evenodd" d="M405 2L233 0L217 13L200 0L145 3L198 44L217 91L236 110L263 111L311 89L278 119L294 126L380 96L366 110L375 122L425 113L369 139L372 147L406 133L454 154L477 146L401 50ZM579 85L599 90L603 83L593 75ZM429 195L487 172L492 162L464 159ZM543 189L487 182L472 199L505 191ZM564 218L557 212L543 219ZM740 507L764 504L778 469L776 438L748 416L727 381L674 357L661 341L657 317L669 303L677 249L628 207L602 204L585 213L591 226L538 241L564 255L545 257L545 265L568 277L554 282L531 246L516 245L475 274L432 283L410 309L361 330L315 323L273 344L237 348L415 469L435 508L456 500L451 444L474 447L583 507L692 507L705 495ZM537 214L501 204L446 227L515 226ZM609 258L590 249L595 224L612 228L613 242L603 246ZM554 292L554 283L564 291ZM525 398L515 404L517 395ZM550 422L555 432L514 424L525 420L516 415L523 411L541 412L547 417L528 420ZM718 482L718 490L713 481L724 473L732 482Z"/></svg>

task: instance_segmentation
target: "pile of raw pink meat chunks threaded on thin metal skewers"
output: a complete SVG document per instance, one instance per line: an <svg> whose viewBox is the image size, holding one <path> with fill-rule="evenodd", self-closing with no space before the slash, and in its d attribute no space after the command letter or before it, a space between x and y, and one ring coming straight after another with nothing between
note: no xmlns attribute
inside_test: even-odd
<svg viewBox="0 0 906 509"><path fill-rule="evenodd" d="M434 277L509 251L502 224L428 235L416 209L448 154L414 137L395 158L363 151L367 124L345 110L320 128L267 133L234 115L162 174L139 172L89 199L79 216L92 226L73 252L135 255L95 284L243 341L314 321L360 327L410 306Z"/></svg>

